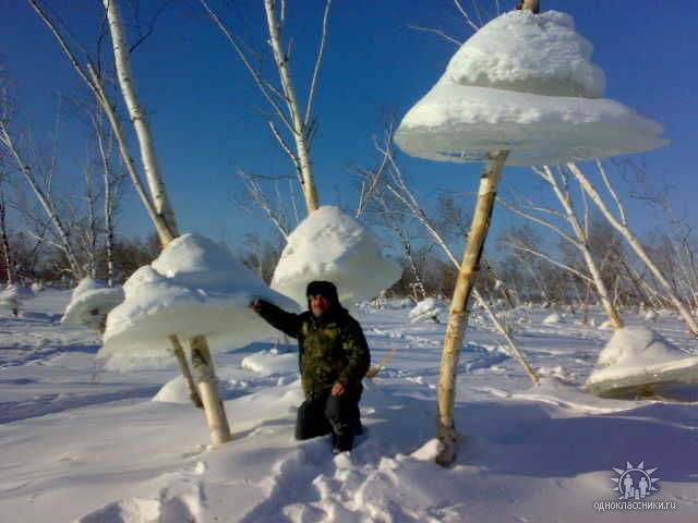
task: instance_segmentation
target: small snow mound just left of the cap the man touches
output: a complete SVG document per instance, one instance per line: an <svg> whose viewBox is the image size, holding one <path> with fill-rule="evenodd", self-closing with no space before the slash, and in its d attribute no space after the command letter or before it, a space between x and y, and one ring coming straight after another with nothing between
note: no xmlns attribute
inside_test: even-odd
<svg viewBox="0 0 698 523"><path fill-rule="evenodd" d="M109 312L123 302L123 289L101 280L84 278L73 290L61 324L101 330Z"/></svg>

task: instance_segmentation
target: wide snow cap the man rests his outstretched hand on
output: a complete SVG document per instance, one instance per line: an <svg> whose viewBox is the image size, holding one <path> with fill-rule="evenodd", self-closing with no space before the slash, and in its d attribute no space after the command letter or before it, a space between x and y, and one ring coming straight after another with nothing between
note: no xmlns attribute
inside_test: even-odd
<svg viewBox="0 0 698 523"><path fill-rule="evenodd" d="M249 307L257 297L298 311L226 248L198 234L172 241L151 266L136 270L123 290L125 301L107 317L99 351L110 366L121 368L133 360L167 357L169 335L183 342L207 336L212 350L239 349L272 336L274 330Z"/></svg>

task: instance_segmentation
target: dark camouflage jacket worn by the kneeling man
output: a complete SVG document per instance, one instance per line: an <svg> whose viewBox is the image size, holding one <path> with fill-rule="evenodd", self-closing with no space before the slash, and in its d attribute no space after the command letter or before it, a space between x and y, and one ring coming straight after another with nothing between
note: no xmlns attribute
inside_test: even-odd
<svg viewBox="0 0 698 523"><path fill-rule="evenodd" d="M360 386L371 355L359 321L345 308L335 307L316 318L310 312L291 314L263 301L258 313L273 327L298 339L301 381L308 399L335 384Z"/></svg>

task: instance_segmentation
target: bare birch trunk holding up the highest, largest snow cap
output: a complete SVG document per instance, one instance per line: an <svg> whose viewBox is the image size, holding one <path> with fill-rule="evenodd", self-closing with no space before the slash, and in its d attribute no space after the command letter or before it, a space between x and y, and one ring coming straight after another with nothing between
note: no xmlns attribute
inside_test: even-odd
<svg viewBox="0 0 698 523"><path fill-rule="evenodd" d="M462 344L462 337L467 321L468 301L474 285L479 270L480 257L484 241L490 229L492 210L496 199L500 178L506 163L508 151L496 151L491 156L484 174L480 179L478 203L472 217L468 244L464 253L462 263L456 281L448 327L441 361L441 377L438 381L438 416L436 422L436 437L443 443L436 457L440 465L450 465L456 459L456 427L454 421L454 405L456 400L456 376L458 360Z"/></svg>

